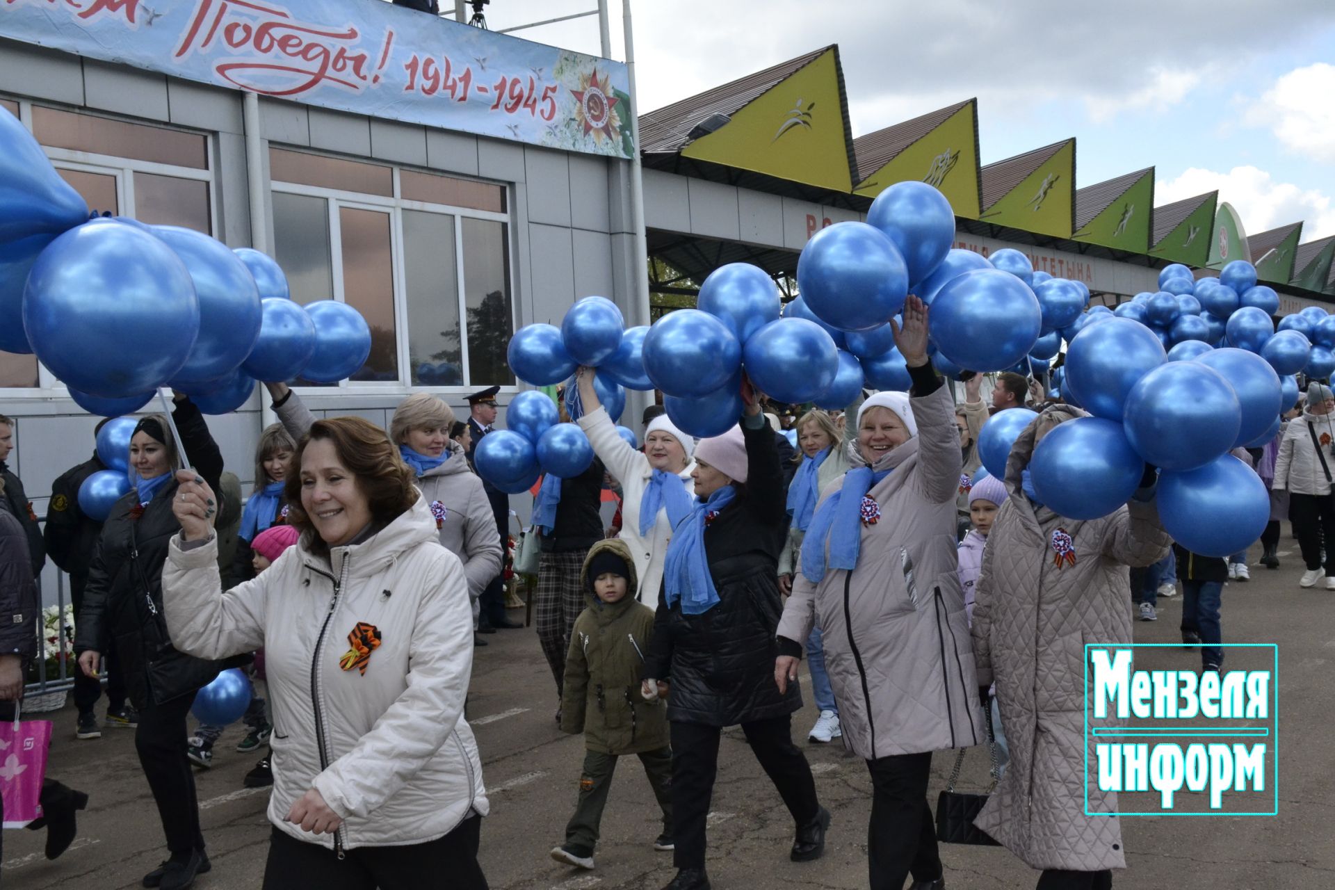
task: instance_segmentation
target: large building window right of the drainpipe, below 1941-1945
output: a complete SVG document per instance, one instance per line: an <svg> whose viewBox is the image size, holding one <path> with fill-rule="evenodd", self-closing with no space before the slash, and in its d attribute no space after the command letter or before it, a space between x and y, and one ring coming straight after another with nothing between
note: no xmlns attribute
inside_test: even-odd
<svg viewBox="0 0 1335 890"><path fill-rule="evenodd" d="M286 148L270 180L292 299L342 300L371 327L351 382L514 383L503 185Z"/></svg>

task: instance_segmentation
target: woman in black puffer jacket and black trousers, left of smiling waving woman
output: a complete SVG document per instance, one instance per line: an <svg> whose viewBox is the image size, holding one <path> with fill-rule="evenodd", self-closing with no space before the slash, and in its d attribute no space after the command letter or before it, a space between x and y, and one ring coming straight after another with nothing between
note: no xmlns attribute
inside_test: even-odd
<svg viewBox="0 0 1335 890"><path fill-rule="evenodd" d="M196 472L218 490L223 456L199 408L176 395L172 416ZM219 670L218 662L176 651L162 606L167 546L180 531L172 514L174 471L180 467L167 418L139 422L129 439L134 488L111 508L88 571L75 648L79 667L96 677L101 654L115 646L125 691L139 710L135 747L152 789L170 858L144 877L146 887L187 887L210 869L199 830L195 777L186 757L186 715L195 693ZM216 510L216 504L211 504Z"/></svg>

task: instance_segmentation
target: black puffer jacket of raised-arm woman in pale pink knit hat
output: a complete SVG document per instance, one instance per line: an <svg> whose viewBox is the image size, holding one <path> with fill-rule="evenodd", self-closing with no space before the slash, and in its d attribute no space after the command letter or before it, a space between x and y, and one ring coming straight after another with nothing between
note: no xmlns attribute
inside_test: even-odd
<svg viewBox="0 0 1335 890"><path fill-rule="evenodd" d="M742 426L746 484L705 528L718 604L686 615L658 595L645 677L669 681L668 719L708 726L764 721L801 709L797 685L774 685L774 632L784 611L778 554L786 531L784 471L774 434Z"/></svg>

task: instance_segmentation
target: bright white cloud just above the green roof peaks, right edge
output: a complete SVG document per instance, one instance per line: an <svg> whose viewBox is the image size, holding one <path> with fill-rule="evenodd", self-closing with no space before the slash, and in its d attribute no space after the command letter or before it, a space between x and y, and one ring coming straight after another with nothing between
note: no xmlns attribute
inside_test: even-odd
<svg viewBox="0 0 1335 890"><path fill-rule="evenodd" d="M1159 180L1155 204L1219 189L1219 200L1234 205L1248 235L1303 220L1303 240L1335 235L1335 201L1315 188L1278 183L1256 167L1234 167L1227 173L1192 167L1176 179Z"/></svg>

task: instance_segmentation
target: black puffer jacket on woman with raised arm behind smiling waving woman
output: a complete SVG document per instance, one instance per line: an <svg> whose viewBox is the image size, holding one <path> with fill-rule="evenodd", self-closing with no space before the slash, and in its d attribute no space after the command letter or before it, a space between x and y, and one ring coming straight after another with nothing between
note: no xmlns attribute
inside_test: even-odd
<svg viewBox="0 0 1335 890"><path fill-rule="evenodd" d="M172 416L195 470L218 491L223 455L199 408L186 399L176 403ZM134 491L111 508L88 571L75 636L80 652L107 652L116 646L125 691L138 709L194 693L219 670L218 662L178 652L163 616L163 563L168 542L180 531L171 511L176 484L172 479L159 488L138 518Z"/></svg>

